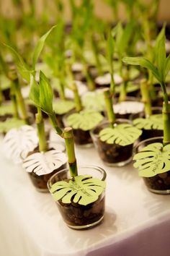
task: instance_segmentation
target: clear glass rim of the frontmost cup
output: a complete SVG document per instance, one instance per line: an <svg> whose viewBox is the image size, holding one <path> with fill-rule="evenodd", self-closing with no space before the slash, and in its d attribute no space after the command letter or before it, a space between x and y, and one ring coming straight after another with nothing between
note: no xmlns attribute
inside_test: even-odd
<svg viewBox="0 0 170 256"><path fill-rule="evenodd" d="M107 177L107 173L106 173L106 171L104 171L104 168L99 167L99 166L84 165L84 166L78 166L78 169L79 169L79 168L94 168L94 169L96 169L97 171L101 171L101 173L103 174L103 177L102 177L102 179L101 179L102 181L104 181L104 180L106 179L106 177ZM48 179L47 186L48 186L48 189L49 189L49 190L50 190L50 187L52 186L52 185L51 185L51 180L53 179L53 177L55 177L55 176L58 175L58 174L61 174L63 171L68 171L68 172L69 172L69 168L67 167L67 168L62 169L61 171L56 172L55 174L53 174L53 176L50 177L50 179ZM79 174L78 174L78 175L79 175Z"/></svg>

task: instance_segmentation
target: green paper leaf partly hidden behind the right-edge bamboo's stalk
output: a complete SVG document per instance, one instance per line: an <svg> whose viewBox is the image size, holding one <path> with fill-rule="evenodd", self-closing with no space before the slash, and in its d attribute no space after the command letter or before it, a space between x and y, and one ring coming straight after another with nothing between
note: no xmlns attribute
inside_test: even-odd
<svg viewBox="0 0 170 256"><path fill-rule="evenodd" d="M164 129L162 114L154 114L147 119L138 118L133 121L138 129Z"/></svg>

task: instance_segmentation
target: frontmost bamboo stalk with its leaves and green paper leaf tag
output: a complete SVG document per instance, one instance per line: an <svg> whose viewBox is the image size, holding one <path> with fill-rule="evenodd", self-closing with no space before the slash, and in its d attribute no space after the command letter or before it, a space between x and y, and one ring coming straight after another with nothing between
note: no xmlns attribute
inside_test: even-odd
<svg viewBox="0 0 170 256"><path fill-rule="evenodd" d="M30 98L37 106L40 106L42 111L48 114L55 132L63 137L66 143L68 155L68 166L71 174L71 179L61 182L56 182L50 188L55 201L68 203L77 203L78 205L89 205L95 202L99 195L104 191L105 183L99 179L92 178L89 175L79 176L79 168L77 168L76 156L74 151L73 130L71 127L66 127L62 130L58 127L58 122L53 111L53 91L45 77L45 74L40 72L40 82L37 83L34 77L31 78ZM84 182L86 180L86 182ZM87 184L91 184L91 187ZM90 190L89 190L90 189ZM93 192L91 193L91 191ZM86 196L88 193L88 197Z"/></svg>

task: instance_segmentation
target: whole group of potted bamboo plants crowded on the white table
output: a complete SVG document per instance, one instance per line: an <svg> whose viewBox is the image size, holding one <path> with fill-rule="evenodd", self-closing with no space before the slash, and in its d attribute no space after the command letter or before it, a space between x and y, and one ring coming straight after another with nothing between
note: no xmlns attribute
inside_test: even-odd
<svg viewBox="0 0 170 256"><path fill-rule="evenodd" d="M73 12L75 8L73 7ZM86 8L91 9L90 5L86 5ZM89 15L89 12L87 14ZM83 17L84 21L86 15ZM84 33L89 31L89 27L86 27L85 22L81 27L82 31L76 35L80 19L78 15L73 20L71 56L68 53L64 56L65 35L63 21L60 20L57 27L52 27L37 41L29 61L6 44L3 46L4 51L7 49L11 54L12 64L6 61L4 54L1 54L0 58L4 80L10 84L11 98L11 103L3 100L0 107L0 129L6 134L6 156L22 163L37 190L47 192L49 189L64 221L73 229L86 229L102 221L106 186L106 172L102 168L77 166L74 141L76 145L86 147L94 142L102 161L109 166L124 166L134 159L139 176L144 177L151 192L170 192L170 112L166 87L170 61L169 56L166 57L165 26L152 46L151 38L148 38L146 33L151 27L147 25L147 20L145 25L142 24L147 39L147 48L143 54L145 57L136 57L133 51L136 43L133 36L136 25L133 19L124 27L121 23L113 29L109 27L104 39L101 39L102 34L99 34L99 31L99 39L97 35L93 37L89 33L94 66L87 61L86 54L81 52L81 48L86 48ZM90 25L94 26L94 20L91 14ZM96 25L95 29L99 27ZM57 49L53 33L57 35ZM42 53L48 37L48 51ZM102 43L104 47L101 46ZM103 50L104 54L101 54ZM126 55L133 57L123 58ZM43 62L40 63L40 59ZM104 72L102 61L107 67L107 73ZM121 85L117 85L115 75L117 62L118 82L121 82ZM132 69L130 64L144 69ZM53 75L48 74L49 67ZM41 71L37 72L37 69ZM45 69L45 72L42 69ZM46 77L46 72L50 79ZM75 78L78 77L77 82ZM161 103L164 101L163 110L152 107L157 104L158 98L154 77L161 85L162 95L159 92L159 99ZM82 86L84 80L86 85ZM21 83L26 85L22 88ZM55 86L52 88L51 85ZM96 90L97 86L102 87L102 90ZM89 92L84 94L87 90ZM30 100L24 100L25 92L26 98L28 93L32 103ZM135 101L132 101L132 98L128 101L128 93L137 95ZM57 98L58 95L60 98ZM116 97L117 95L119 97ZM2 96L4 97L3 94ZM34 114L28 114L28 107ZM56 143L49 140L49 120L58 135ZM139 141L141 142L138 143Z"/></svg>

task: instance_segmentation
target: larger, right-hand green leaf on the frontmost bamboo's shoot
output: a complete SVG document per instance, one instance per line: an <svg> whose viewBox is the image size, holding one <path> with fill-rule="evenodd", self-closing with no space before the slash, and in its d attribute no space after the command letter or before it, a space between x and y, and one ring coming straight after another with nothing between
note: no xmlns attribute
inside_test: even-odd
<svg viewBox="0 0 170 256"><path fill-rule="evenodd" d="M47 114L53 114L53 90L42 72L40 72L40 108Z"/></svg>

